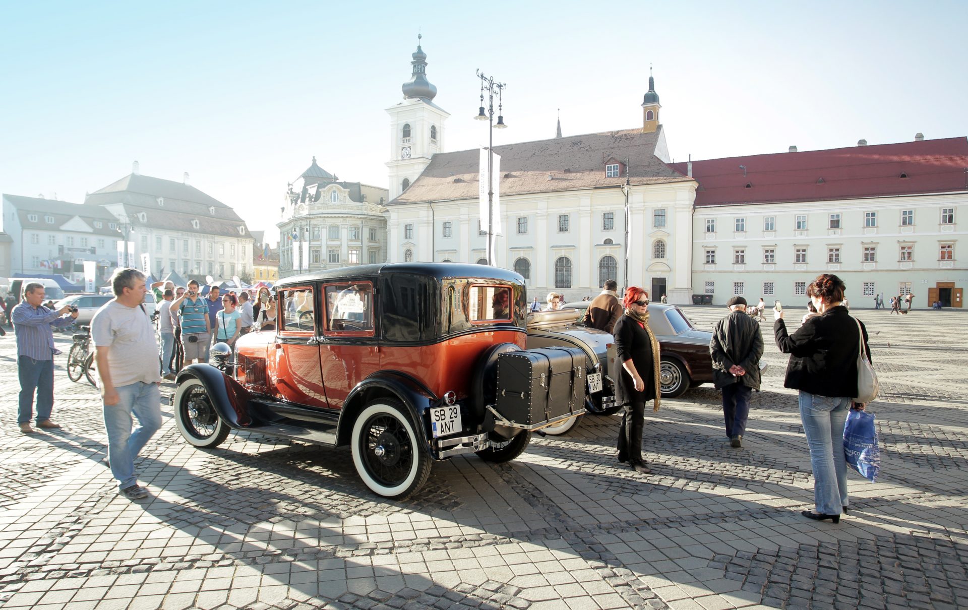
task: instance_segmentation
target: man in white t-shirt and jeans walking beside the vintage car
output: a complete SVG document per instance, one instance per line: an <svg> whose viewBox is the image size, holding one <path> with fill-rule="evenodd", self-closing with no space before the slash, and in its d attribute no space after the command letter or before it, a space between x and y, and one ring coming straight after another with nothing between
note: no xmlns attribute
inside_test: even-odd
<svg viewBox="0 0 968 610"><path fill-rule="evenodd" d="M107 459L121 495L139 500L135 458L162 426L158 384L158 341L144 308L144 274L117 269L110 279L114 298L91 320L107 430ZM138 426L132 431L132 415Z"/></svg>

